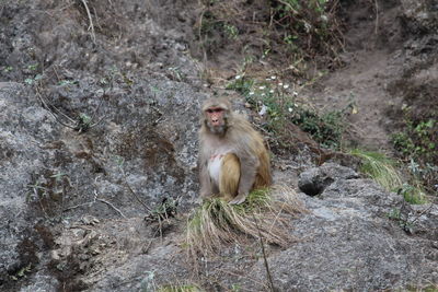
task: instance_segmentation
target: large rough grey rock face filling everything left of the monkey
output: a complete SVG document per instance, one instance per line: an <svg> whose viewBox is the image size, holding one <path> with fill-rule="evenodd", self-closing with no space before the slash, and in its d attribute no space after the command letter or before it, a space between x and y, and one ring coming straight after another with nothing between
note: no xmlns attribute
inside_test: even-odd
<svg viewBox="0 0 438 292"><path fill-rule="evenodd" d="M31 282L28 291L53 291L71 280L74 259L64 258L69 272L50 250L83 215L145 217L164 198L181 210L197 199L207 95L184 54L192 24L170 2L142 4L94 2L96 42L81 27L83 3L1 4L0 78L20 83L0 84L0 290ZM108 43L115 32L118 45ZM80 133L50 112L72 128L81 117L102 120Z"/></svg>

